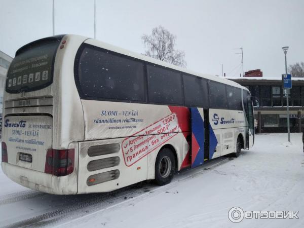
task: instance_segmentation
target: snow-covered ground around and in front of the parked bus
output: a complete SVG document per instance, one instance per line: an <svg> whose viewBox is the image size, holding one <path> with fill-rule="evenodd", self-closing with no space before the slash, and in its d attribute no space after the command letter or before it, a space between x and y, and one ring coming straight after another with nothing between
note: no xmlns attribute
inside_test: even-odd
<svg viewBox="0 0 304 228"><path fill-rule="evenodd" d="M109 194L54 196L23 188L0 172L0 226L304 227L301 134L257 135L234 160L180 172L166 186L143 184ZM8 195L9 194L9 195ZM244 211L299 211L299 219L228 219Z"/></svg>

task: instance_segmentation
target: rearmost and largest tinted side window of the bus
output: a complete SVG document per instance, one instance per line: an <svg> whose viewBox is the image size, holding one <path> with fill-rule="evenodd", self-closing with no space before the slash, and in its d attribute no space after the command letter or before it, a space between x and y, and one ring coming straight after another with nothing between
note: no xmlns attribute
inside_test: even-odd
<svg viewBox="0 0 304 228"><path fill-rule="evenodd" d="M84 44L75 80L83 99L145 101L144 63Z"/></svg>

